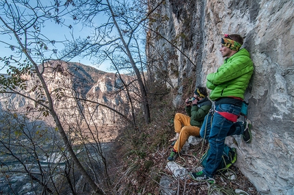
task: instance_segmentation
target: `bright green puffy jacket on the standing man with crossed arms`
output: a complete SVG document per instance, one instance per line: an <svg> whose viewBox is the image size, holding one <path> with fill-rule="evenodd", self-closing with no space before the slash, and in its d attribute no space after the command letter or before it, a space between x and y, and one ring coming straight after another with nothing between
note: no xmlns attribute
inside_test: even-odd
<svg viewBox="0 0 294 195"><path fill-rule="evenodd" d="M250 53L241 49L217 69L216 73L207 75L206 86L211 91L210 99L215 101L222 97L239 97L244 99L244 92L253 73Z"/></svg>

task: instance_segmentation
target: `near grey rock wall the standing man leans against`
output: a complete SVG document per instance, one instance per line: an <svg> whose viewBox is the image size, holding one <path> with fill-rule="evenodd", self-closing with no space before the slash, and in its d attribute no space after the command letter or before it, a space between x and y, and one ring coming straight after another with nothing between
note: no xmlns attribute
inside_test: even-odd
<svg viewBox="0 0 294 195"><path fill-rule="evenodd" d="M157 12L159 22L150 23L164 38L148 34L148 53L163 59L157 66L164 62L172 87L178 88L175 105L183 102L183 79L205 85L206 75L222 64L219 43L224 34L245 37L243 47L254 62L245 93L253 139L251 144L240 138L226 142L237 140L237 166L260 194L293 194L293 10L292 0L169 0Z"/></svg>

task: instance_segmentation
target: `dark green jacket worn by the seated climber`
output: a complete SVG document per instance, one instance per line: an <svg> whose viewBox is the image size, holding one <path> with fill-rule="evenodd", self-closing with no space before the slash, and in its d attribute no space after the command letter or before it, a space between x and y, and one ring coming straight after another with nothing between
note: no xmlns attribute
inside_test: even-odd
<svg viewBox="0 0 294 195"><path fill-rule="evenodd" d="M204 117L209 113L209 109L211 109L211 105L211 101L205 97L198 101L197 105L185 107L187 115L190 116L190 125L201 127Z"/></svg>

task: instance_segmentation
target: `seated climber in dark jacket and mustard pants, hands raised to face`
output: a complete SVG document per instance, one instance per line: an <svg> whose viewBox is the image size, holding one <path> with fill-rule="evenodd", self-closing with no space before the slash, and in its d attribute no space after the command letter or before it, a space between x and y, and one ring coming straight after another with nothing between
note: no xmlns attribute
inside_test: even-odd
<svg viewBox="0 0 294 195"><path fill-rule="evenodd" d="M174 116L174 131L176 131L176 137L170 141L174 141L172 153L168 157L168 161L174 161L178 157L183 148L185 142L190 135L199 137L200 127L203 123L204 117L209 113L211 109L211 101L207 98L207 90L203 87L196 88L193 98L186 99L186 114L176 113Z"/></svg>

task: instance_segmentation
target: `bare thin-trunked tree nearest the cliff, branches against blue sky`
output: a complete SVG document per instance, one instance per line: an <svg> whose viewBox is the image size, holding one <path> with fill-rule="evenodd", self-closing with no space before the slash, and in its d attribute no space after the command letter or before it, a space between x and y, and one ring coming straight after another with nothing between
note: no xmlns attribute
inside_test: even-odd
<svg viewBox="0 0 294 195"><path fill-rule="evenodd" d="M144 78L146 71L144 25L148 22L147 2L73 0L67 1L67 5L68 8L75 8L73 18L77 22L93 29L92 36L76 40L68 49L74 48L77 42L83 42L84 46L80 47L82 55L90 56L98 64L111 57L114 70L134 73L139 83L139 96L142 99L145 122L149 123L148 88ZM65 52L68 53L66 50ZM99 56L98 59L95 58L96 56Z"/></svg>

